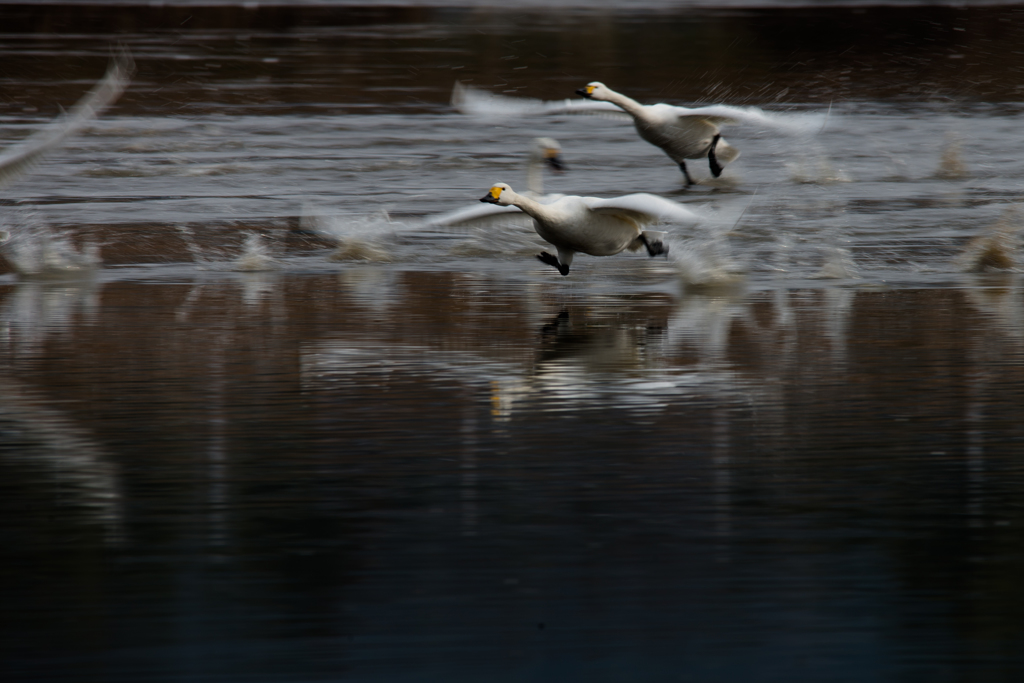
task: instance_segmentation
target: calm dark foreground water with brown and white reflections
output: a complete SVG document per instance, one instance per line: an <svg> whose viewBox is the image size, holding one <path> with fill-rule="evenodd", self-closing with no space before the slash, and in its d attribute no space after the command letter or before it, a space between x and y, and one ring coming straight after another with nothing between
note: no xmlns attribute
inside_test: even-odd
<svg viewBox="0 0 1024 683"><path fill-rule="evenodd" d="M0 356L23 388L0 394L0 460L5 499L34 502L31 527L3 517L5 658L113 680L202 651L222 658L193 675L244 676L265 642L271 671L307 652L314 678L473 677L500 656L726 680L750 673L726 650L771 647L849 680L919 657L1006 680L1020 302L1015 276L624 297L379 266L6 286ZM94 445L12 436L58 423ZM39 480L46 458L86 478ZM105 508L82 502L97 481ZM178 621L195 632L151 628Z"/></svg>

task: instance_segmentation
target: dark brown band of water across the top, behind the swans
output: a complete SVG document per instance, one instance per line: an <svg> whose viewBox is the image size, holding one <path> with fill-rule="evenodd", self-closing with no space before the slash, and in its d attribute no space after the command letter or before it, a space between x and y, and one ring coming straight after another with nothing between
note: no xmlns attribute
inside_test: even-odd
<svg viewBox="0 0 1024 683"><path fill-rule="evenodd" d="M641 100L1016 102L1024 56L1002 46L1021 42L1019 12L5 5L8 73L35 78L0 108L55 113L125 39L138 75L118 111L132 116L282 104L434 110L456 78L545 99L597 78L628 84ZM78 58L67 59L69 50Z"/></svg>

